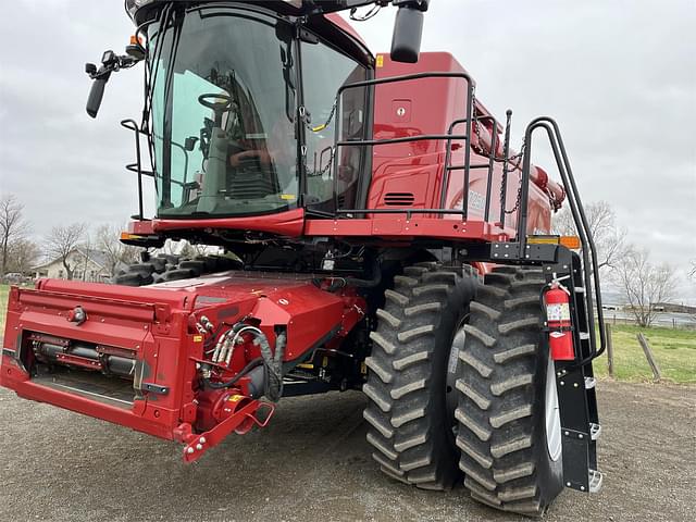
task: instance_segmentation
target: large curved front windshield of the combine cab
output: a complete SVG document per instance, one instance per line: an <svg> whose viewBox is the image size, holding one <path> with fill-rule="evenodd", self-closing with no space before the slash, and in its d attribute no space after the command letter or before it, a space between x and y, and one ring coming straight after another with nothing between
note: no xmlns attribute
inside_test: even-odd
<svg viewBox="0 0 696 522"><path fill-rule="evenodd" d="M297 206L293 30L273 16L191 8L148 28L158 215Z"/></svg>

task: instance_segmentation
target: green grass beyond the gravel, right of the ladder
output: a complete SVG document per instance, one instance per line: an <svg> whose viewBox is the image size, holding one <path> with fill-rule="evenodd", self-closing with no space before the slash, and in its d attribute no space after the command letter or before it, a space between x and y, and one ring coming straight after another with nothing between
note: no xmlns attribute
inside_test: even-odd
<svg viewBox="0 0 696 522"><path fill-rule="evenodd" d="M616 378L630 382L652 381L652 372L636 338L642 333L652 348L664 381L696 384L696 331L616 325L611 327L611 332ZM595 361L594 366L598 376L608 376L606 355Z"/></svg>

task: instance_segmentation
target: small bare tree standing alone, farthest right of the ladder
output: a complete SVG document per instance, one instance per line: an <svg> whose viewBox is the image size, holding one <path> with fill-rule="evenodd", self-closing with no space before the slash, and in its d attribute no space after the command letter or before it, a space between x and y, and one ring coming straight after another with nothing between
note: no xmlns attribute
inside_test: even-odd
<svg viewBox="0 0 696 522"><path fill-rule="evenodd" d="M613 276L638 325L649 327L657 304L673 297L676 288L674 271L667 264L650 263L645 249L629 248L617 263Z"/></svg>

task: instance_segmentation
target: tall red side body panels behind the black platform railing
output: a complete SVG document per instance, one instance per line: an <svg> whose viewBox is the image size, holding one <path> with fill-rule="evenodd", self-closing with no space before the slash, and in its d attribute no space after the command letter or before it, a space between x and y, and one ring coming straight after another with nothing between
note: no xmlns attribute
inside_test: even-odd
<svg viewBox="0 0 696 522"><path fill-rule="evenodd" d="M393 77L428 71L465 73L464 69L446 52L424 52L417 64L393 62L388 55L377 59L377 77ZM434 100L437 100L434 102ZM427 134L446 134L452 121L467 117L467 83L462 78L424 78L396 84L380 85L375 89L374 138L388 139ZM478 114L488 111L476 102ZM484 124L482 135L489 136ZM501 130L498 126L497 130ZM465 132L461 125L455 127L455 134ZM480 145L476 133L472 132L472 165L488 164L488 158L476 153ZM502 136L498 136L498 151L501 154ZM451 165L463 165L467 144L463 140L452 142ZM394 144L374 148L373 177L368 208L388 209L386 195L389 192L409 192L413 195L413 208L435 209L440 207L439 197L446 189L447 209L462 208L463 171L452 171L447 187L443 187L447 142L445 140ZM496 163L493 175L489 224L498 223L500 215L499 198L502 176L501 163ZM514 206L521 172L513 170L508 179L507 201ZM487 171L471 171L469 189L469 215L471 221L483 221L486 198ZM548 197L538 187L532 185L530 200L536 204L530 207L530 232L535 228L548 231L550 227L550 208ZM376 219L376 217L375 217ZM449 216L449 220L457 220ZM448 220L448 221L449 221ZM461 220L459 220L461 221ZM474 224L475 225L475 224ZM517 225L517 212L510 214L506 226ZM443 224L443 231L451 228L451 223ZM492 227L469 226L481 233L481 239L490 240ZM504 231L500 231L504 232ZM495 236L495 234L493 234ZM448 237L452 237L448 235ZM456 236L455 236L456 237ZM461 237L461 236L460 236Z"/></svg>

